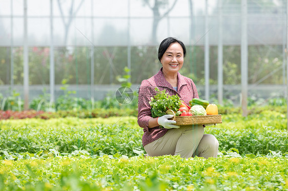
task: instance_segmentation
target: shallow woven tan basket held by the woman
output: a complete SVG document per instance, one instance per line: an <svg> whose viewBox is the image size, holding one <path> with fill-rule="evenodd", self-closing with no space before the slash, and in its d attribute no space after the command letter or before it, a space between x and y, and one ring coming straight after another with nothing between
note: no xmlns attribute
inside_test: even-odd
<svg viewBox="0 0 288 191"><path fill-rule="evenodd" d="M221 115L193 115L193 116L175 116L177 122L173 125L205 125L205 124L221 124Z"/></svg>

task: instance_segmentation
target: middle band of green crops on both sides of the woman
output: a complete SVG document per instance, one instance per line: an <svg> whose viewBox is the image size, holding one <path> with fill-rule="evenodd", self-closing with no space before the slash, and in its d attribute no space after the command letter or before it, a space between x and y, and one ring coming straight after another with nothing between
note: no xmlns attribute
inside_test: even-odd
<svg viewBox="0 0 288 191"><path fill-rule="evenodd" d="M288 132L283 127L265 126L269 125L272 117L268 116L265 121L265 116L250 119L238 116L237 120L236 115L225 115L223 124L207 127L205 133L216 136L220 151L236 148L241 155L267 154L269 150L287 152ZM273 116L284 123L285 117ZM272 118L271 123L276 121ZM0 121L0 128L0 149L8 153L55 149L60 153L86 150L91 155L119 153L132 157L135 156L133 149L143 151L143 132L133 116L5 120Z"/></svg>

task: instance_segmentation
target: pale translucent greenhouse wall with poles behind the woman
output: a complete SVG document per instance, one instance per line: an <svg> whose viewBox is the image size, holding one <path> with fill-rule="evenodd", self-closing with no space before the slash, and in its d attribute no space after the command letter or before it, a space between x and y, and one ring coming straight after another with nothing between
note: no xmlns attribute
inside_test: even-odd
<svg viewBox="0 0 288 191"><path fill-rule="evenodd" d="M25 109L43 91L54 102L65 85L99 100L125 67L136 91L173 36L188 50L180 73L201 97L232 99L245 116L251 96L287 98L287 12L285 0L3 0L0 92L19 92Z"/></svg>

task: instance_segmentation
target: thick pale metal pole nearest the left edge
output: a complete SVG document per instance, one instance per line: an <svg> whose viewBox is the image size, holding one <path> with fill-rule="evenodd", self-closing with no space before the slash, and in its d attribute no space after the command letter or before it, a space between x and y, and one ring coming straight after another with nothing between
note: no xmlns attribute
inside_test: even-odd
<svg viewBox="0 0 288 191"><path fill-rule="evenodd" d="M24 110L29 109L27 0L24 0Z"/></svg>

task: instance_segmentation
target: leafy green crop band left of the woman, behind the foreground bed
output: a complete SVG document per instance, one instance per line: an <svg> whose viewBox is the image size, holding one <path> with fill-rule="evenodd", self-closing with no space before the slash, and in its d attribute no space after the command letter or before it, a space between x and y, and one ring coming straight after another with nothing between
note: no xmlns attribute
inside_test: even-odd
<svg viewBox="0 0 288 191"><path fill-rule="evenodd" d="M119 118L114 117L114 120L119 120ZM111 125L97 125L96 119L81 120L78 118L52 119L51 123L50 120L39 119L24 121L27 124L22 127L2 125L0 131L2 151L36 153L39 150L56 149L61 153L71 153L74 150L87 150L92 155L102 152L106 154L130 153L129 156L132 156L133 149L141 149L141 129L135 129L123 122L122 125L118 125L116 121L111 124L113 119L102 120ZM9 121L2 123L5 122L9 123ZM10 122L17 121L11 120ZM32 127L33 122L34 127Z"/></svg>

